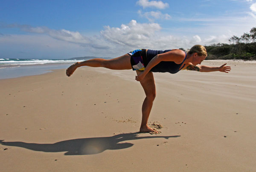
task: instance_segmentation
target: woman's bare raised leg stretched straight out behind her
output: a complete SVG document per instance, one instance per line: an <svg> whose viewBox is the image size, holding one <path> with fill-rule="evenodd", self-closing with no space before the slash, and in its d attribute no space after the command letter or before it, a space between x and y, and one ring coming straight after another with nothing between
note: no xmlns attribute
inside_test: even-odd
<svg viewBox="0 0 256 172"><path fill-rule="evenodd" d="M90 66L90 67L104 67L113 70L124 70L124 69L131 69L131 56L129 54L125 54L120 57L116 57L110 60L95 58L91 60L86 60L83 62L77 62L71 65L66 70L67 76L70 76L75 72L78 67L81 66Z"/></svg>

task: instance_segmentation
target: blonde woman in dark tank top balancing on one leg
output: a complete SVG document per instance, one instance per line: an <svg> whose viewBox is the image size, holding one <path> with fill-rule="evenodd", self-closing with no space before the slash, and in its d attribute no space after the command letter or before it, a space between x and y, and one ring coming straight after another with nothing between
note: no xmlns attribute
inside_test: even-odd
<svg viewBox="0 0 256 172"><path fill-rule="evenodd" d="M142 105L142 121L140 132L156 132L148 126L148 117L156 96L153 72L169 72L175 74L180 70L187 69L199 72L226 72L231 70L230 66L210 67L201 66L201 62L207 57L207 51L204 46L195 45L189 52L183 52L180 49L165 51L155 51L149 49L137 49L121 57L111 60L91 59L83 62L77 62L71 65L67 71L67 76L80 66L105 67L113 70L133 69L136 70L135 80L140 81L146 97Z"/></svg>

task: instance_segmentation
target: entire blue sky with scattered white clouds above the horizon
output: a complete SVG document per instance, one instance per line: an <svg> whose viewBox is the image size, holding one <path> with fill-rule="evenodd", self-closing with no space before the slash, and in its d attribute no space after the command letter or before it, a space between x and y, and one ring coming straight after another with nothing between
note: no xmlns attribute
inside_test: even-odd
<svg viewBox="0 0 256 172"><path fill-rule="evenodd" d="M256 27L256 0L1 0L0 58L118 57L228 43Z"/></svg>

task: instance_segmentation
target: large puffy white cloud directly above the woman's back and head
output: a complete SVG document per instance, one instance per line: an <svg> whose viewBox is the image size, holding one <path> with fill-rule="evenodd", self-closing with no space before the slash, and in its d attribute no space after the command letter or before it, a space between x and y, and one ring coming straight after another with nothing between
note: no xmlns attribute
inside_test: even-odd
<svg viewBox="0 0 256 172"><path fill-rule="evenodd" d="M119 28L106 26L101 31L102 37L109 42L110 47L115 47L122 51L131 51L132 49L175 49L190 48L195 44L206 42L215 43L215 40L205 40L199 35L192 37L178 37L171 33L161 32L161 27L157 23L137 23L131 20L128 25L122 24Z"/></svg>

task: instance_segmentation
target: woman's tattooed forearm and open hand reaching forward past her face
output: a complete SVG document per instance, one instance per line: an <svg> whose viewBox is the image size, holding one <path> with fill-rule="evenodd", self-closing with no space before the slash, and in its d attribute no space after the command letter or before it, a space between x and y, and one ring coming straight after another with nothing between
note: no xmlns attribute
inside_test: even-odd
<svg viewBox="0 0 256 172"><path fill-rule="evenodd" d="M220 72L225 72L228 73L231 70L230 66L225 66L227 63L225 63L224 65L220 66L220 67L212 67L212 66L201 66L201 65L197 65L194 66L192 64L188 65L186 67L187 70L191 70L191 71L198 71L198 72L215 72L215 71L220 71Z"/></svg>

